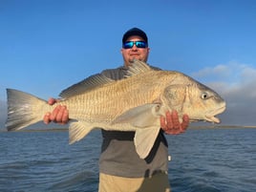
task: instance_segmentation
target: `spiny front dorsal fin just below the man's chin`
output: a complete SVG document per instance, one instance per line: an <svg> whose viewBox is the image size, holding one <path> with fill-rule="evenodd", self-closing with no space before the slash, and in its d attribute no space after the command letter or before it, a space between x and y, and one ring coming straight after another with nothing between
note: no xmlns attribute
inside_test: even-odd
<svg viewBox="0 0 256 192"><path fill-rule="evenodd" d="M132 65L128 67L127 75L125 75L125 77L139 75L141 73L145 73L151 70L152 69L145 62L139 61L138 59L134 59Z"/></svg>

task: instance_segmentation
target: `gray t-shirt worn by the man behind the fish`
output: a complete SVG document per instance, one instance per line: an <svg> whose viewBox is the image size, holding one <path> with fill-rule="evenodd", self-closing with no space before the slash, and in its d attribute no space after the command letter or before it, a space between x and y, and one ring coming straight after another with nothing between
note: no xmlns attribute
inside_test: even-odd
<svg viewBox="0 0 256 192"><path fill-rule="evenodd" d="M159 68L152 67L154 70ZM105 70L101 74L118 80L126 75L127 68ZM126 178L150 177L168 170L168 144L160 131L158 138L145 160L139 159L134 145L135 132L102 130L103 142L99 159L99 172Z"/></svg>

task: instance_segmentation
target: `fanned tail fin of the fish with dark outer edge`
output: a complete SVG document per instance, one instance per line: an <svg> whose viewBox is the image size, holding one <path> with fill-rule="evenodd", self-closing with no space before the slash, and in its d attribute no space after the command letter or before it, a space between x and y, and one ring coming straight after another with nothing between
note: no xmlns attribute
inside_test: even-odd
<svg viewBox="0 0 256 192"><path fill-rule="evenodd" d="M20 130L42 120L42 105L46 104L45 100L13 89L7 89L7 96L8 131Z"/></svg>

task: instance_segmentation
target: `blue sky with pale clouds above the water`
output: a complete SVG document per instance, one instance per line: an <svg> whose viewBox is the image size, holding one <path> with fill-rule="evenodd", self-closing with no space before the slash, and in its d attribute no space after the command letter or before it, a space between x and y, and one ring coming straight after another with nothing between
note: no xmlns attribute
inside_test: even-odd
<svg viewBox="0 0 256 192"><path fill-rule="evenodd" d="M0 0L0 125L6 88L45 99L122 65L122 34L148 34L148 62L227 101L224 124L256 124L256 1ZM2 126L1 125L1 126Z"/></svg>

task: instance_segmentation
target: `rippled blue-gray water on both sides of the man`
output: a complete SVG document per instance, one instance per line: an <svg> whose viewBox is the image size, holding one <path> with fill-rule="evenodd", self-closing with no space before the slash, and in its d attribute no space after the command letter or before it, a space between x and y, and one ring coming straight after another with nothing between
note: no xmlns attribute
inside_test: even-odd
<svg viewBox="0 0 256 192"><path fill-rule="evenodd" d="M168 136L173 192L255 192L256 129ZM0 191L97 191L99 131L69 145L67 132L0 133Z"/></svg>

